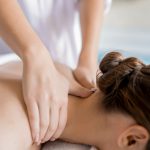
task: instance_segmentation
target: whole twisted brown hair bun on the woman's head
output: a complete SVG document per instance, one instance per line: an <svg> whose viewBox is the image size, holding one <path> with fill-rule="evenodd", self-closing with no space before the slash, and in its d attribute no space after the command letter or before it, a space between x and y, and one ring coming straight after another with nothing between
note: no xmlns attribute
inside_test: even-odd
<svg viewBox="0 0 150 150"><path fill-rule="evenodd" d="M97 85L105 93L113 93L128 84L133 73L150 73L150 70L135 57L124 58L119 52L108 53L100 63L102 76L97 76ZM143 68L143 69L142 69Z"/></svg>

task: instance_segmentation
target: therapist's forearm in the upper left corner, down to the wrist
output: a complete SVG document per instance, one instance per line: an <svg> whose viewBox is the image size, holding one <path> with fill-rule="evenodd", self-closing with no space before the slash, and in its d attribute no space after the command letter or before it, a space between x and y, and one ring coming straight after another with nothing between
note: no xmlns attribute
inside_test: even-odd
<svg viewBox="0 0 150 150"><path fill-rule="evenodd" d="M0 0L0 35L22 59L46 51L17 0Z"/></svg>

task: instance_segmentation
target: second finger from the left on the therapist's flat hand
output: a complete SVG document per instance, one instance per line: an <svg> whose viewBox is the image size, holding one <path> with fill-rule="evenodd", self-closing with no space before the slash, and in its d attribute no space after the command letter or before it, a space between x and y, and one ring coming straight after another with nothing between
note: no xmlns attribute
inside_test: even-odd
<svg viewBox="0 0 150 150"><path fill-rule="evenodd" d="M49 102L47 99L43 99L38 104L39 106L39 115L40 115L40 137L39 137L39 143L43 141L43 138L47 132L47 129L49 127Z"/></svg>

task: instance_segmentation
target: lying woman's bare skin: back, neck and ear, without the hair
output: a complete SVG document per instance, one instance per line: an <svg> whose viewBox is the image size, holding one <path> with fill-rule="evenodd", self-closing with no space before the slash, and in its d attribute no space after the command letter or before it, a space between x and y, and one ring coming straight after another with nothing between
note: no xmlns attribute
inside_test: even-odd
<svg viewBox="0 0 150 150"><path fill-rule="evenodd" d="M59 64L56 67L68 77L72 88L76 87L71 71ZM22 95L21 68L21 64L16 63L0 66L1 150L40 148L32 145L27 110ZM102 106L103 94L99 90L85 99L71 95L68 98L68 120L60 139L94 145L100 150L144 150L149 139L146 130L128 115L106 113ZM135 139L137 144L132 147L128 146L129 136L138 137Z"/></svg>

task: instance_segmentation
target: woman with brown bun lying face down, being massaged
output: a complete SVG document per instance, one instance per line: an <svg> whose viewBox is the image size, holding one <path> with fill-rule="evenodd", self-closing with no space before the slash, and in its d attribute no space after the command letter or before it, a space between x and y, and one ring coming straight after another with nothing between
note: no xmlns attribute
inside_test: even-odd
<svg viewBox="0 0 150 150"><path fill-rule="evenodd" d="M79 88L71 70L56 66L72 89ZM69 95L68 121L60 139L100 150L149 150L150 66L111 52L100 70L95 93L84 99ZM18 64L0 68L0 149L39 149L32 145L17 71L21 73Z"/></svg>

